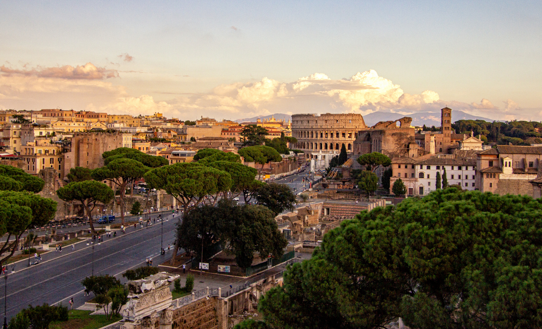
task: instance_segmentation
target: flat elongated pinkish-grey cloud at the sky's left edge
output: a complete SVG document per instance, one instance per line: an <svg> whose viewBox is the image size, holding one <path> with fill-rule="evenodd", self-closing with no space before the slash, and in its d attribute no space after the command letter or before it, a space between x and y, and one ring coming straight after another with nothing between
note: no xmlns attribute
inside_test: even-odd
<svg viewBox="0 0 542 329"><path fill-rule="evenodd" d="M43 78L63 78L63 79L83 79L83 80L102 80L104 78L118 77L117 70L96 67L92 63L85 65L64 65L59 67L41 67L37 66L30 69L12 69L5 65L0 66L0 73L4 76L36 76Z"/></svg>

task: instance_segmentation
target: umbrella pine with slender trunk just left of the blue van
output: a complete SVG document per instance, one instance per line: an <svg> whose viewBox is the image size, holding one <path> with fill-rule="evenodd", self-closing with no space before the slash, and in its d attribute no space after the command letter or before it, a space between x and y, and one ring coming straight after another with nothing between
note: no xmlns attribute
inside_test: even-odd
<svg viewBox="0 0 542 329"><path fill-rule="evenodd" d="M92 234L95 235L94 225L92 223L92 210L96 207L96 203L100 202L104 205L113 200L115 194L109 186L99 181L82 181L71 182L68 185L59 188L56 195L64 201L79 201L85 213L87 214L88 222L91 226Z"/></svg>

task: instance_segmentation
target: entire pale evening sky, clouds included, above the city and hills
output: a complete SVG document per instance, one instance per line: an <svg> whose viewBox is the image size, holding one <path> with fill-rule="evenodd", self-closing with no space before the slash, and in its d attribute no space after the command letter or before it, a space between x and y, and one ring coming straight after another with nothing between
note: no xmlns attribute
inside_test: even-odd
<svg viewBox="0 0 542 329"><path fill-rule="evenodd" d="M0 3L0 108L542 120L538 1Z"/></svg>

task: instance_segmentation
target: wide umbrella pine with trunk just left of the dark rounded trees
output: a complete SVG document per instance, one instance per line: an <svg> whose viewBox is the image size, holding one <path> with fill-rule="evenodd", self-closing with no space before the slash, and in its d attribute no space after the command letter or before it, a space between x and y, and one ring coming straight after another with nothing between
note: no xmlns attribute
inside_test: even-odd
<svg viewBox="0 0 542 329"><path fill-rule="evenodd" d="M186 216L207 195L227 192L231 187L231 176L197 162L179 162L150 170L145 174L145 182L150 188L164 189L171 194L183 206ZM177 254L178 248L177 237L173 255ZM175 257L171 258L171 264L175 264Z"/></svg>

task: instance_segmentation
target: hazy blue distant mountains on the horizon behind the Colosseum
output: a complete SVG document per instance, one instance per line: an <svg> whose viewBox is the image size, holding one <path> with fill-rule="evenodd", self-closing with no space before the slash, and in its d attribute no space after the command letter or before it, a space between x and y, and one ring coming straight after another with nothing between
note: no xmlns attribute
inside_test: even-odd
<svg viewBox="0 0 542 329"><path fill-rule="evenodd" d="M256 122L256 119L271 119L271 117L275 117L276 120L284 119L286 121L292 120L292 116L288 114L283 113L275 113L273 115L260 115L255 117L249 117L244 119L238 119L235 120L235 122ZM418 113L412 113L412 114L399 114L399 113L389 113L389 112L373 112L367 115L363 116L363 120L365 120L365 124L369 127L374 126L376 123L380 121L389 121L389 120L397 120L401 119L404 116L408 116L412 118L412 126L425 126L431 127L440 127L440 112L418 112ZM470 115L468 113L464 113L463 111L457 111L457 110L451 110L451 119L455 121L457 120L485 120L487 122L493 122L494 120L488 119L487 117L481 117L481 116L475 116Z"/></svg>

